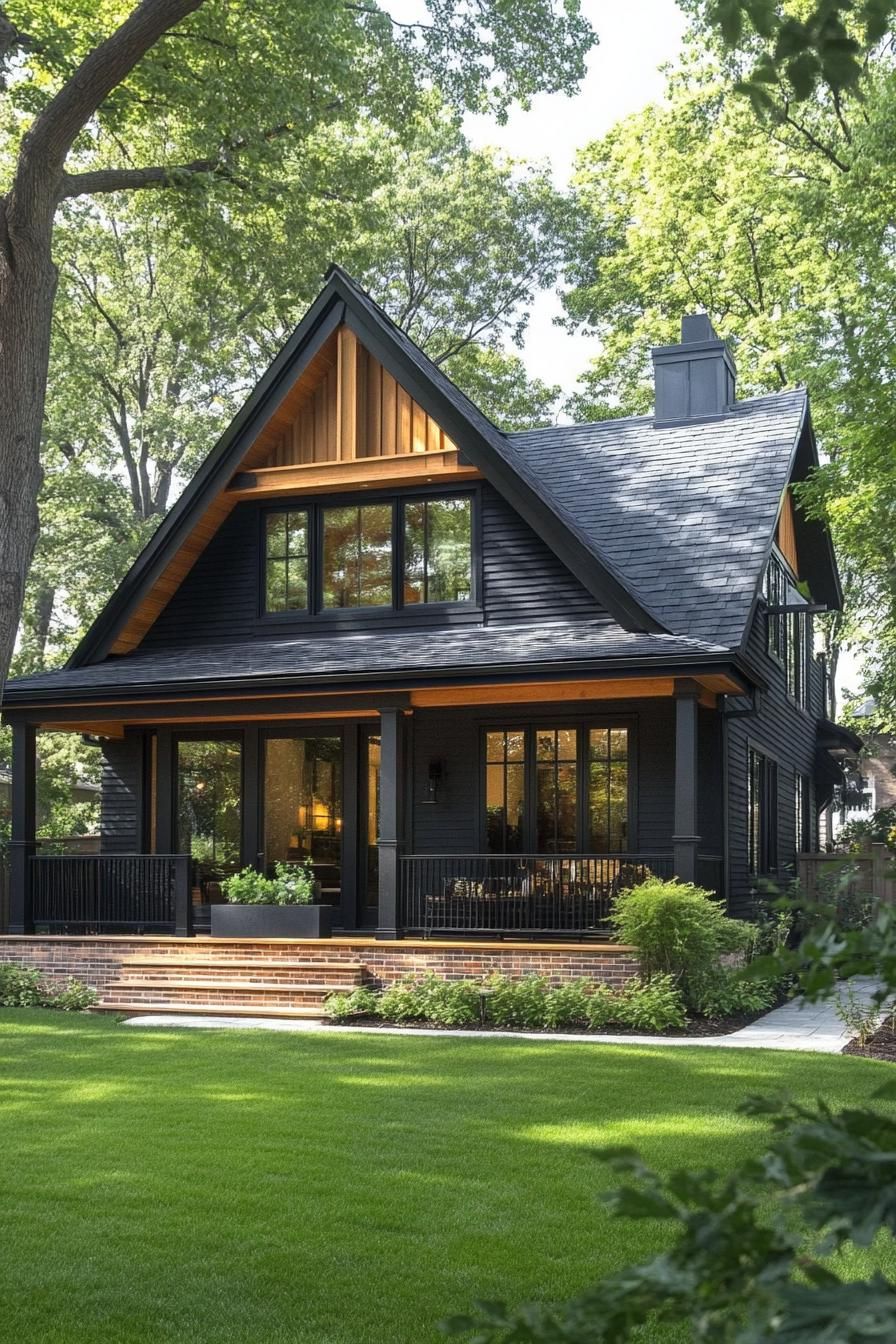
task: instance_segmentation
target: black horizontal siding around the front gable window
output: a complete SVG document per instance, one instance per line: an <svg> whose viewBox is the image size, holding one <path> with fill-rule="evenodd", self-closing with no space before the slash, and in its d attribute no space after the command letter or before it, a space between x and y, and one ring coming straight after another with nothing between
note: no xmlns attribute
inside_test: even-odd
<svg viewBox="0 0 896 1344"><path fill-rule="evenodd" d="M481 501L482 620L486 624L606 616L497 491L485 485ZM142 648L253 640L259 630L265 637L326 637L328 628L318 621L259 621L259 538L258 505L238 504L146 633ZM376 628L407 630L415 622L419 626L423 614L419 607L407 614L395 613L392 620L377 622ZM364 614L357 622L341 620L339 630L333 626L329 630L344 634L355 628L371 628Z"/></svg>

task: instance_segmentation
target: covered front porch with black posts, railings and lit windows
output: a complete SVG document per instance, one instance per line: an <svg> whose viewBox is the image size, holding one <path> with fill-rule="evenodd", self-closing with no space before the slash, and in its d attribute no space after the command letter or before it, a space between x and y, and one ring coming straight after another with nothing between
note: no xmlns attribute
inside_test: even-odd
<svg viewBox="0 0 896 1344"><path fill-rule="evenodd" d="M647 874L724 895L729 673L11 708L11 934L203 935L243 866L308 860L341 933L602 939ZM101 853L36 839L40 730L106 758Z"/></svg>

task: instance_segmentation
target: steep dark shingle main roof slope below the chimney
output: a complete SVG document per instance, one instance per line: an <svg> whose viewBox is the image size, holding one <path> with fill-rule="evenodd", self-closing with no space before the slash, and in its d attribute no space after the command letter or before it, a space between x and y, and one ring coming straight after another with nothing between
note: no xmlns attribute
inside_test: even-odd
<svg viewBox="0 0 896 1344"><path fill-rule="evenodd" d="M737 648L806 418L805 391L711 421L508 434L545 500L676 634Z"/></svg>

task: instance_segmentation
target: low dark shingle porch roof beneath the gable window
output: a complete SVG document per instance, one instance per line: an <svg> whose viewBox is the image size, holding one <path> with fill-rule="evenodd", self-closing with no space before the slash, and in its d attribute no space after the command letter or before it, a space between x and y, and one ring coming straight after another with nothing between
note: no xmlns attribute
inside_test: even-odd
<svg viewBox="0 0 896 1344"><path fill-rule="evenodd" d="M270 684L282 679L297 687L322 679L367 677L387 681L403 673L462 675L469 668L519 665L533 671L541 664L623 659L674 661L720 650L700 640L670 634L638 634L607 621L556 621L540 625L454 626L438 630L402 630L320 634L305 638L250 640L239 644L203 644L193 648L136 652L81 668L42 672L7 683L7 700L35 692L94 692L126 687L164 687L181 683ZM308 687L304 687L308 689Z"/></svg>

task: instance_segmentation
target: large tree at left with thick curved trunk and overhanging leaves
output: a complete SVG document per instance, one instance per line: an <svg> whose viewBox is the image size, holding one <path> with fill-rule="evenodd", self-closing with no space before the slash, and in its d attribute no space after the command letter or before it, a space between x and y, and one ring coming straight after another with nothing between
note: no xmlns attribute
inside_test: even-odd
<svg viewBox="0 0 896 1344"><path fill-rule="evenodd" d="M0 687L38 535L60 204L173 188L187 238L203 198L239 212L324 128L400 132L433 83L458 109L501 116L541 89L574 89L591 42L572 0L430 0L410 24L375 3L324 0L141 0L124 19L110 0L3 4Z"/></svg>

